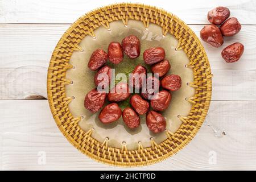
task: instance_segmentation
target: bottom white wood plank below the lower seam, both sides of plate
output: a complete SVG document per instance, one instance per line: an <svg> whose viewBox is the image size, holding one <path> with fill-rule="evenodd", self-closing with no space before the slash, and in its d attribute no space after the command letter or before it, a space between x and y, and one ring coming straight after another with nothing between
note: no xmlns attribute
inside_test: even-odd
<svg viewBox="0 0 256 182"><path fill-rule="evenodd" d="M0 101L0 108L6 107L0 110L2 169L126 169L94 162L78 152L53 127L49 111L42 111L46 105L46 100ZM208 122L187 147L164 162L132 169L256 169L255 113L255 101L213 101ZM26 117L29 122L19 119ZM226 135L220 135L222 131ZM38 163L44 152L46 164ZM210 160L212 155L216 155L216 164Z"/></svg>

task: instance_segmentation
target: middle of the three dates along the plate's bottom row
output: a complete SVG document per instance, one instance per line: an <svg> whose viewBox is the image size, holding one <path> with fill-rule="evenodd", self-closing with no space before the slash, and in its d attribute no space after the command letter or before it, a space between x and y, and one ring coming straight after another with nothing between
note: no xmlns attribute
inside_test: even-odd
<svg viewBox="0 0 256 182"><path fill-rule="evenodd" d="M130 129L139 127L141 124L141 118L139 118L139 115L133 109L131 109L131 107L127 107L123 110L122 117L123 122L125 122L126 126L128 126Z"/></svg>

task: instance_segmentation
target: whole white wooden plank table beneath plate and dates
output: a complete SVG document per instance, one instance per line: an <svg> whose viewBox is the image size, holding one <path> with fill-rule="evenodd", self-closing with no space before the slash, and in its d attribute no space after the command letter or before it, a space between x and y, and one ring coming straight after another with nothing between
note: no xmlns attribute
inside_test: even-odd
<svg viewBox="0 0 256 182"><path fill-rule="evenodd" d="M126 169L94 162L72 147L55 125L46 92L61 35L82 14L113 2L119 1L0 0L0 169ZM226 6L242 30L221 48L203 42L214 75L208 122L177 155L133 169L256 169L256 1L141 2L176 14L198 36L209 24L208 10ZM243 43L245 52L227 64L220 52L233 42Z"/></svg>

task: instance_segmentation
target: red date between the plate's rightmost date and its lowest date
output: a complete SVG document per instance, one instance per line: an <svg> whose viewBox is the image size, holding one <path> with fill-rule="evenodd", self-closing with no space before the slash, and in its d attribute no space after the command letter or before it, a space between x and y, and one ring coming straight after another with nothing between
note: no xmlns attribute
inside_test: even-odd
<svg viewBox="0 0 256 182"><path fill-rule="evenodd" d="M172 95L166 90L162 90L155 94L150 101L151 107L156 111L163 111L170 105Z"/></svg>

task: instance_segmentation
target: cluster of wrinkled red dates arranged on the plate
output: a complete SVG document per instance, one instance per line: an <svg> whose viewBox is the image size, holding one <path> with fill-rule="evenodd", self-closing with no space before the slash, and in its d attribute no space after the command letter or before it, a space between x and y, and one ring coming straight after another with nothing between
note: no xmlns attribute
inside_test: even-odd
<svg viewBox="0 0 256 182"><path fill-rule="evenodd" d="M146 125L153 133L160 133L166 129L166 119L159 111L167 109L170 105L172 94L170 91L178 90L181 87L181 78L178 75L167 75L171 65L165 59L165 51L162 47L148 48L143 53L144 63L151 65L151 71L154 75L157 73L159 78L155 76L140 77L139 81L133 81L133 85L126 82L119 82L110 90L109 93L98 92L97 86L104 81L98 77L100 73L106 73L109 76L108 85L110 85L110 67L105 65L107 60L113 64L119 64L123 61L123 53L130 59L137 58L141 53L141 42L139 39L130 35L122 40L122 44L112 42L109 44L108 53L102 49L96 49L90 57L88 67L92 71L97 71L94 76L94 84L96 88L86 94L84 106L91 113L100 111L98 118L102 123L112 123L117 121L121 115L123 122L130 129L139 127L141 124L140 115L146 114ZM138 64L132 73L147 74L147 69L141 64ZM142 80L144 78L144 80ZM130 76L129 80L135 80L134 75ZM106 80L105 80L106 81ZM143 82L144 81L144 82ZM143 86L142 83L152 83L151 89ZM140 94L129 93L129 86L139 89ZM162 86L162 89L160 89ZM117 90L127 90L126 93L117 92ZM160 90L159 92L154 92ZM110 104L104 107L105 101L108 98ZM121 110L118 102L130 99L130 107ZM151 106L151 107L150 107ZM152 109L151 109L152 108Z"/></svg>

